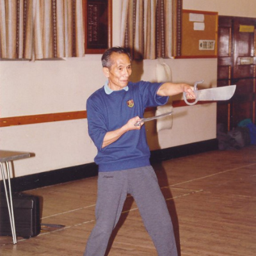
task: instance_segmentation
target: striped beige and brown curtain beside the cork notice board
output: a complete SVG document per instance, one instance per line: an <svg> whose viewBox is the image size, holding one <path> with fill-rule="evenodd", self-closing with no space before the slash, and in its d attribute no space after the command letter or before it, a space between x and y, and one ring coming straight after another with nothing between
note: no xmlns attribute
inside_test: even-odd
<svg viewBox="0 0 256 256"><path fill-rule="evenodd" d="M120 44L134 59L175 55L178 3L182 0L122 0Z"/></svg>

